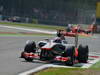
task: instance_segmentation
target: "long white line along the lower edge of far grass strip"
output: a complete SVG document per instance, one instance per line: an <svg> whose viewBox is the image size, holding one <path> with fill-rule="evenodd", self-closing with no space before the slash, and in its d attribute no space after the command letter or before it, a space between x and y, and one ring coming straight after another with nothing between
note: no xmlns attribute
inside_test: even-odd
<svg viewBox="0 0 100 75"><path fill-rule="evenodd" d="M0 27L18 29L18 30L25 30L25 31L33 31L33 32L40 32L40 33L47 33L47 34L56 34L56 32L47 31L47 30L40 30L40 29L30 29L30 28L4 26L4 25L0 25Z"/></svg>

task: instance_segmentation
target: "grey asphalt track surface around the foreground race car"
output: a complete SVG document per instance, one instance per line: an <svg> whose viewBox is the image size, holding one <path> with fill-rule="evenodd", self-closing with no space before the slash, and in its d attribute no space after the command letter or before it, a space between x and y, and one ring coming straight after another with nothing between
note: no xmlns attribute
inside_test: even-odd
<svg viewBox="0 0 100 75"><path fill-rule="evenodd" d="M3 30L6 30L5 28ZM15 30L11 30L12 32ZM19 58L27 40L36 42L47 36L0 36L0 75L17 75L21 72L39 67L45 63L26 62ZM74 43L74 38L66 38ZM100 53L100 34L90 38L79 38L79 44L89 45L90 52Z"/></svg>

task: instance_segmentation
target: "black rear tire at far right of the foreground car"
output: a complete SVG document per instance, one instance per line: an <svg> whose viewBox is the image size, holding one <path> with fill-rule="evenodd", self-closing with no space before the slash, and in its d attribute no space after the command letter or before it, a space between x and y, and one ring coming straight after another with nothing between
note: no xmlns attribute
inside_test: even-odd
<svg viewBox="0 0 100 75"><path fill-rule="evenodd" d="M85 45L85 46L79 45L79 48L78 48L78 61L79 61L79 63L87 63L88 53L89 53L88 45Z"/></svg>

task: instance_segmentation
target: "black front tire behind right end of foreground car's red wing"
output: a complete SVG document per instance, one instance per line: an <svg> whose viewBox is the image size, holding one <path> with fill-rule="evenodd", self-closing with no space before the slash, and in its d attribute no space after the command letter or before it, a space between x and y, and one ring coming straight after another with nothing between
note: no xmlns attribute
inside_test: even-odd
<svg viewBox="0 0 100 75"><path fill-rule="evenodd" d="M70 60L66 61L65 64L68 66L72 66L75 61L75 47L71 46L67 48L66 52L63 53L63 57L70 57Z"/></svg>

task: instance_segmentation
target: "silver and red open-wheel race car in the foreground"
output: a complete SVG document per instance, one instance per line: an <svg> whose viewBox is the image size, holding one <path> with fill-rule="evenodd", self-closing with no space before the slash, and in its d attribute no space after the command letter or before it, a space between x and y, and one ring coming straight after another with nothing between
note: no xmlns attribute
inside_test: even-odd
<svg viewBox="0 0 100 75"><path fill-rule="evenodd" d="M64 36L63 36L64 37ZM76 37L75 37L76 38ZM54 39L44 39L37 44L35 41L26 42L24 51L21 53L21 58L26 61L61 61L66 65L74 65L77 62L87 63L89 48L88 45L70 44L62 37ZM78 46L78 47L77 47Z"/></svg>

